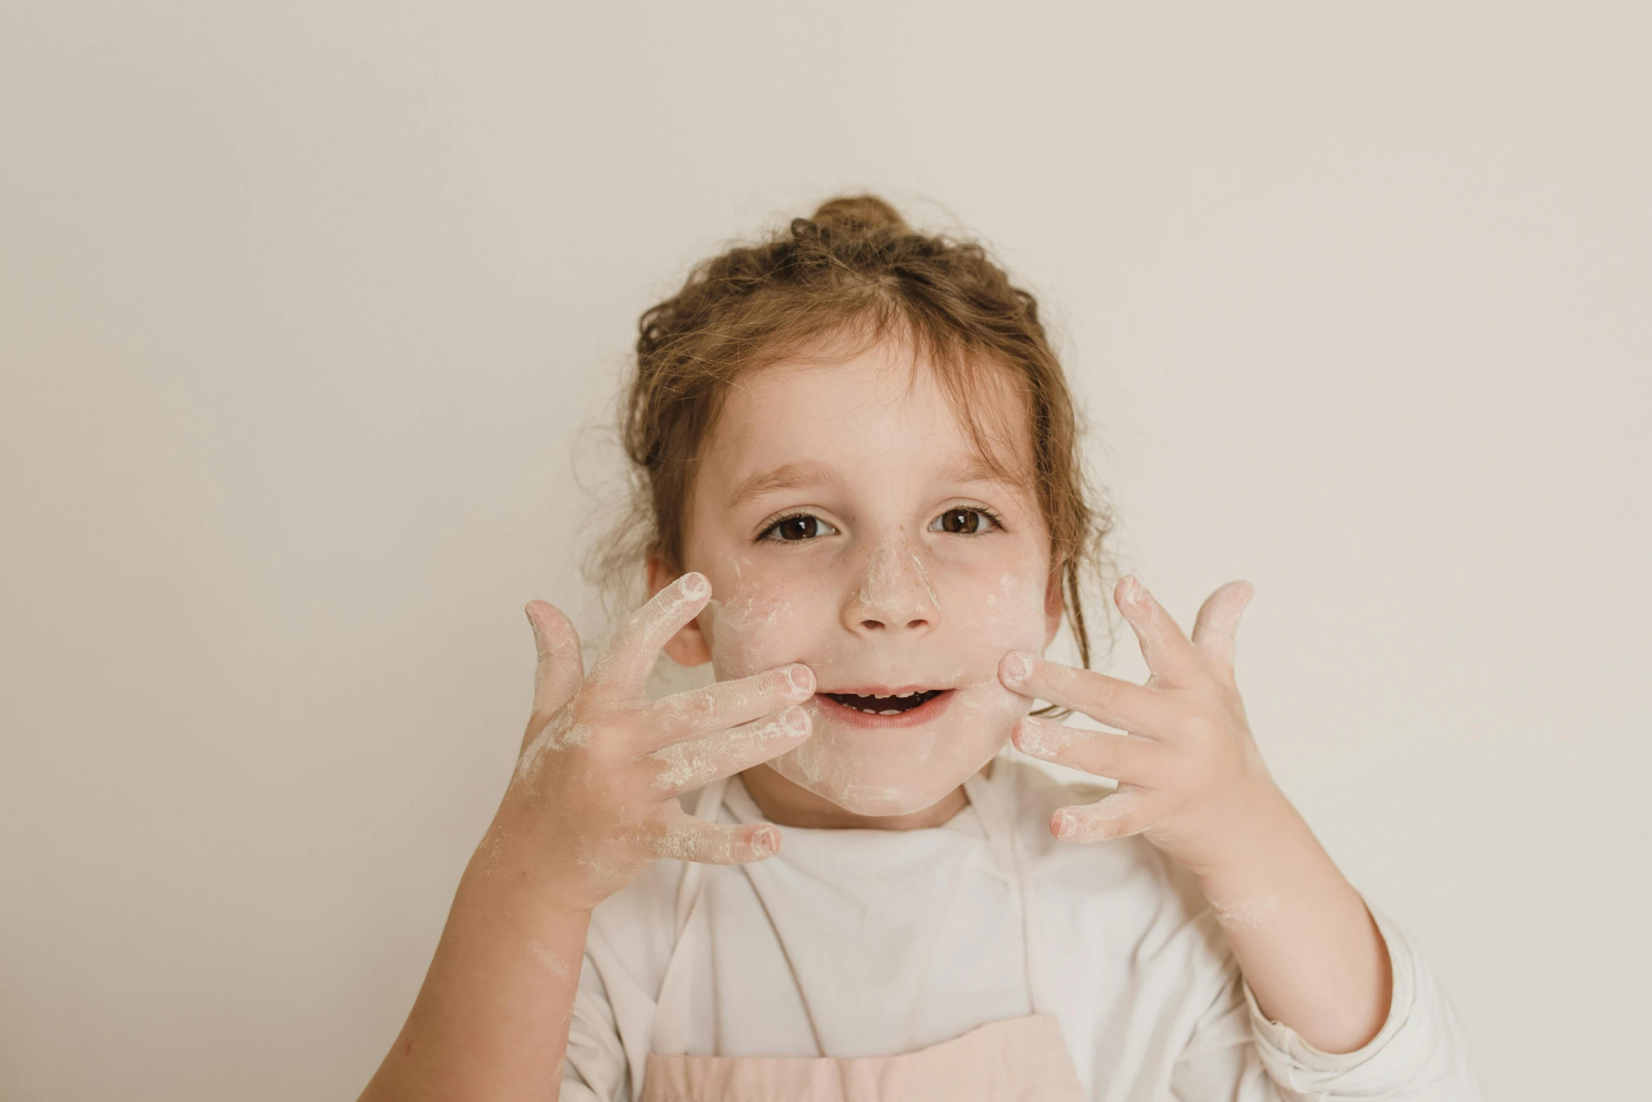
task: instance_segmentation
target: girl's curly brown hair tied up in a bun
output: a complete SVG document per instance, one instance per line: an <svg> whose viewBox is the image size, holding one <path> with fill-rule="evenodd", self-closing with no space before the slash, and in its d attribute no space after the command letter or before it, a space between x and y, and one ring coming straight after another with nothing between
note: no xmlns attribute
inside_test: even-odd
<svg viewBox="0 0 1652 1102"><path fill-rule="evenodd" d="M971 399L983 370L1024 396L1051 567L1090 665L1082 589L1112 518L1085 480L1079 417L1037 302L978 243L919 233L872 195L834 198L765 241L699 264L677 294L643 312L638 330L620 419L629 511L590 563L605 591L649 556L681 569L694 473L740 374L818 355L821 345L897 338L935 371L971 442L999 470L1001 449Z"/></svg>

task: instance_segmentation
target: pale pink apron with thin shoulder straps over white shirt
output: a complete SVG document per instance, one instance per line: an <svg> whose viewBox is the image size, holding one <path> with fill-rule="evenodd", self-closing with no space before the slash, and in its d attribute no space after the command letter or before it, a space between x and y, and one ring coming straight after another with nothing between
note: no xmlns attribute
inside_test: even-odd
<svg viewBox="0 0 1652 1102"><path fill-rule="evenodd" d="M724 784L700 792L694 813L715 818ZM677 889L679 937L666 965L654 1015L654 1051L643 1076L643 1102L1085 1102L1079 1072L1061 1036L1049 998L1049 962L1034 892L1026 879L1014 820L1004 797L980 777L965 782L999 861L1009 864L1021 897L1031 1015L899 1056L682 1056L687 1048L689 957L697 929L704 866L689 864Z"/></svg>

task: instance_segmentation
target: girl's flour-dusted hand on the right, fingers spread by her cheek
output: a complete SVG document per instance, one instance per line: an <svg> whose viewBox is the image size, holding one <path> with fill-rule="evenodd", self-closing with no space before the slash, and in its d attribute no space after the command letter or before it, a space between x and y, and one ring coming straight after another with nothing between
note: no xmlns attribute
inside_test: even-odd
<svg viewBox="0 0 1652 1102"><path fill-rule="evenodd" d="M1011 652L998 676L1014 693L1084 713L1123 734L1026 716L1009 737L1032 757L1112 777L1118 790L1051 815L1069 841L1145 835L1194 873L1254 853L1285 797L1262 762L1234 683L1234 632L1249 582L1229 582L1199 609L1189 640L1135 577L1113 600L1146 658L1146 685Z"/></svg>

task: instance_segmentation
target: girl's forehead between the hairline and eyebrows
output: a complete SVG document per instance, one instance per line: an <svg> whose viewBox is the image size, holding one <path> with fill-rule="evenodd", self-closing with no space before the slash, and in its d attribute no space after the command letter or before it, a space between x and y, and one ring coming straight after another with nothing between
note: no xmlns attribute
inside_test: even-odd
<svg viewBox="0 0 1652 1102"><path fill-rule="evenodd" d="M882 341L841 358L791 358L740 376L700 457L702 478L776 464L843 473L1031 473L1026 399L995 363L942 366Z"/></svg>

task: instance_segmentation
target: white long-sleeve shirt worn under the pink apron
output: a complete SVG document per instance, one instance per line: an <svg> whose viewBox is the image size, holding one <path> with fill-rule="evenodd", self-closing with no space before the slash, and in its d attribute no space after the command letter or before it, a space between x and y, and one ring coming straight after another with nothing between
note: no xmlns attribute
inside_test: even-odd
<svg viewBox="0 0 1652 1102"><path fill-rule="evenodd" d="M1256 1005L1191 876L1138 838L1100 846L1049 835L1057 807L1102 790L998 759L986 785L1016 833L1006 868L971 802L910 831L781 826L780 855L705 866L684 940L686 1053L890 1056L1034 1011L1029 960L1095 1102L1470 1102L1467 1046L1426 962L1373 909L1388 942L1388 1021L1355 1053L1322 1053ZM730 782L725 823L762 812ZM591 917L563 1099L641 1094L656 1000L679 940L681 861L656 861ZM1028 942L1042 940L1029 957ZM681 967L681 965L679 965ZM1044 1008L1039 1008L1044 1010Z"/></svg>

